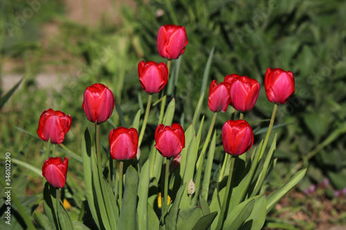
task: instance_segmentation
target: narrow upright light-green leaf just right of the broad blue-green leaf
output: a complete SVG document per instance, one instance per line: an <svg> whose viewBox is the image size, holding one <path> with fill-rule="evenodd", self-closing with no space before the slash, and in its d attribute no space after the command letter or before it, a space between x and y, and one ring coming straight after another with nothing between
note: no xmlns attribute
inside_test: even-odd
<svg viewBox="0 0 346 230"><path fill-rule="evenodd" d="M150 169L149 160L145 162L142 170L140 171L139 184L138 184L138 229L145 230L149 227L148 222L148 193L150 182Z"/></svg>

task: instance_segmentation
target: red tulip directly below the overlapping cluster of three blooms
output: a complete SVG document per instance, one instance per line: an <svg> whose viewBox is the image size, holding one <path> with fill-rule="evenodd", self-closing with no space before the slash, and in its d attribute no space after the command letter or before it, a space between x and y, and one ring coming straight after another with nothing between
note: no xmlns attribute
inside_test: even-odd
<svg viewBox="0 0 346 230"><path fill-rule="evenodd" d="M253 129L244 119L228 120L221 136L224 150L230 155L242 155L253 146Z"/></svg>

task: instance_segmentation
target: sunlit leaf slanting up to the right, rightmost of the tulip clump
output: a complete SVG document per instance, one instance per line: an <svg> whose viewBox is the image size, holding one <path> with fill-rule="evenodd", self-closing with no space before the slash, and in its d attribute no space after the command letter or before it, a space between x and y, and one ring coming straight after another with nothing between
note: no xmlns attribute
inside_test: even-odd
<svg viewBox="0 0 346 230"><path fill-rule="evenodd" d="M298 184L300 180L304 177L305 173L307 172L307 169L302 169L295 173L286 183L284 183L282 186L280 186L279 189L275 190L271 195L268 195L266 198L266 213L271 211L275 204L281 200L281 198L286 195L294 186L295 184Z"/></svg>

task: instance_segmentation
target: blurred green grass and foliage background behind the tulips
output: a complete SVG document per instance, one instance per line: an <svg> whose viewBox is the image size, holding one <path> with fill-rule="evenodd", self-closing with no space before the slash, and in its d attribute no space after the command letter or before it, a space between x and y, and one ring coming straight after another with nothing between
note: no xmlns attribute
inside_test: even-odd
<svg viewBox="0 0 346 230"><path fill-rule="evenodd" d="M281 223L286 229L343 224L345 207L340 204L345 204L346 196L334 193L346 187L345 11L346 2L341 0L0 1L1 95L24 77L0 111L1 154L10 152L12 158L40 169L44 142L36 130L39 115L47 108L73 117L64 144L79 154L85 126L93 128L82 111L82 95L95 82L111 88L125 122L131 124L147 101L138 81L138 62L165 61L157 53L156 33L164 24L177 24L185 26L189 44L181 57L176 88L169 91L176 99L174 121L183 123L183 128L192 122L203 71L215 48L202 110L205 133L212 117L207 106L212 79L221 82L230 73L248 75L262 85L255 108L245 114L258 143L265 135L261 128L268 125L260 120L270 118L273 109L263 87L266 68L291 70L295 94L279 106L275 120L282 125L275 129L280 170L273 171L268 186L282 184L299 169L309 169L268 223ZM154 95L154 102L158 98ZM152 142L157 107L149 117L144 152ZM230 110L219 115L216 127L221 128L229 117ZM116 111L110 123L121 125ZM108 146L105 129L103 140ZM222 148L218 149L215 164L221 160ZM78 178L82 166L72 159L73 164L72 177ZM35 173L12 166L13 180L19 175L28 176L23 195L42 193ZM322 184L325 179L329 184ZM313 184L317 190L305 194ZM31 205L35 207L35 202ZM267 229L271 226L279 225L267 224Z"/></svg>

